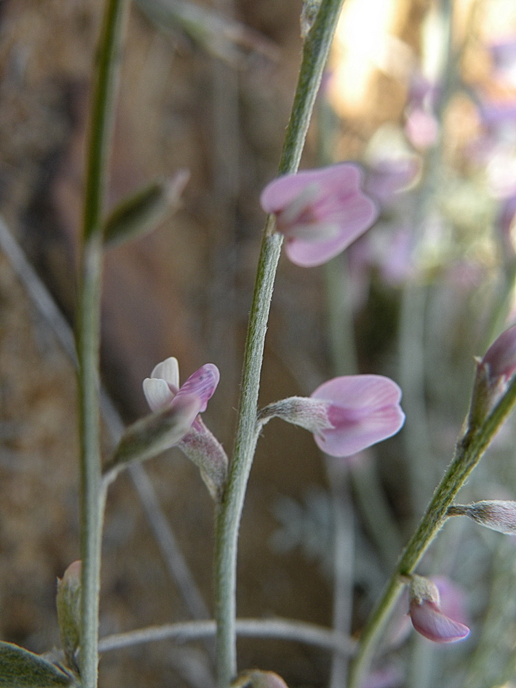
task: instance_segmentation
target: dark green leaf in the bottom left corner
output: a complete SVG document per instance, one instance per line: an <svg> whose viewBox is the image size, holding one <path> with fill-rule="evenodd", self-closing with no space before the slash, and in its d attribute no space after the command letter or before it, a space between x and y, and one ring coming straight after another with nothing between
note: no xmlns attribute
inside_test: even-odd
<svg viewBox="0 0 516 688"><path fill-rule="evenodd" d="M75 686L72 676L14 643L0 643L1 688L56 688Z"/></svg>

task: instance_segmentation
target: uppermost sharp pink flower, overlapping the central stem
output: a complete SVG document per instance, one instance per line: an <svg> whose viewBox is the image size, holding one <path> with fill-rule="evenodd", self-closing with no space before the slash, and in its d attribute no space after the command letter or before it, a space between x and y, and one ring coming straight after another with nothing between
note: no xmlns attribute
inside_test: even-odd
<svg viewBox="0 0 516 688"><path fill-rule="evenodd" d="M279 177L261 193L261 207L276 215L292 263L318 266L372 226L374 202L361 189L361 169L349 162Z"/></svg>

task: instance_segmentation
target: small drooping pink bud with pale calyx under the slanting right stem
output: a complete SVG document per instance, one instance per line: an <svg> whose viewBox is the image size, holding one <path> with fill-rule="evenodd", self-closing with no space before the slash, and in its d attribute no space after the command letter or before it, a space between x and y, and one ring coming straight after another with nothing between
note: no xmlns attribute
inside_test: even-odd
<svg viewBox="0 0 516 688"><path fill-rule="evenodd" d="M440 608L439 589L422 576L411 576L409 614L416 631L433 643L455 643L469 635L469 628L453 621Z"/></svg>

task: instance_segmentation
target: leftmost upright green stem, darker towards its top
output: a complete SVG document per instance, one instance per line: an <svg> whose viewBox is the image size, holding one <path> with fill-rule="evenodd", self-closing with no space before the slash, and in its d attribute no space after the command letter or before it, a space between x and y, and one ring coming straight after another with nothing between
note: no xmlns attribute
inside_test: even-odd
<svg viewBox="0 0 516 688"><path fill-rule="evenodd" d="M80 416L80 556L83 560L80 675L96 688L100 548L105 494L100 480L99 351L103 197L127 0L108 0L98 51L86 172L77 314Z"/></svg>

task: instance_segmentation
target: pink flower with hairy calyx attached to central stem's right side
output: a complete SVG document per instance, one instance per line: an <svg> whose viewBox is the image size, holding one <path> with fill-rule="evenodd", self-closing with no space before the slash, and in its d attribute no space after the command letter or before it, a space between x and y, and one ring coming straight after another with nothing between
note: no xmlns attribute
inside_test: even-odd
<svg viewBox="0 0 516 688"><path fill-rule="evenodd" d="M401 389L381 375L350 375L323 383L310 398L290 397L262 409L261 424L278 416L314 433L330 456L352 456L396 434L405 421Z"/></svg>

